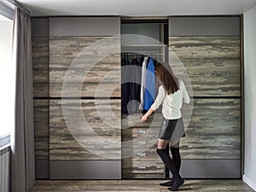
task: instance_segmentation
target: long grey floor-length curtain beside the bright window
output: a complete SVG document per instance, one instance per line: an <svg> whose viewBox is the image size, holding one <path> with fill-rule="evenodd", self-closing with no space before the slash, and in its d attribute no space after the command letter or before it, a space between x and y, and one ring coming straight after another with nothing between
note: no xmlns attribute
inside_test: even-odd
<svg viewBox="0 0 256 192"><path fill-rule="evenodd" d="M26 192L35 183L32 95L32 34L29 15L16 8L13 56L16 65L15 130L11 134L11 191Z"/></svg>

